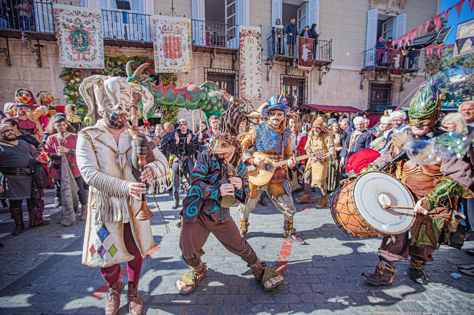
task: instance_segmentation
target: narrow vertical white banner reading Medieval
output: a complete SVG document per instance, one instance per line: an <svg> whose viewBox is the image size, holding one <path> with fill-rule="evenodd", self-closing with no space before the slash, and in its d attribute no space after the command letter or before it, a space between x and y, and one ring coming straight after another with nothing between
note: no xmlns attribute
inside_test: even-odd
<svg viewBox="0 0 474 315"><path fill-rule="evenodd" d="M239 26L240 42L240 98L262 98L262 29Z"/></svg>

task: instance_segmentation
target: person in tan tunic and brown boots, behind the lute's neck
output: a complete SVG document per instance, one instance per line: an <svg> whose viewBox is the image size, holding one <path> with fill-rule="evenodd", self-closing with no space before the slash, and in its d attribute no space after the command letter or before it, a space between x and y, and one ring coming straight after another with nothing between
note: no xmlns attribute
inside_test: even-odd
<svg viewBox="0 0 474 315"><path fill-rule="evenodd" d="M328 152L329 160L336 157L336 148L334 146L334 133L324 126L324 123L317 119L314 121L314 129L307 134L307 141L304 147L308 153L314 153L317 150ZM321 190L321 198L316 204L316 208L324 208L328 205L328 159L315 160L310 157L304 168L304 194L296 198L299 203L309 203L311 187L317 185Z"/></svg>

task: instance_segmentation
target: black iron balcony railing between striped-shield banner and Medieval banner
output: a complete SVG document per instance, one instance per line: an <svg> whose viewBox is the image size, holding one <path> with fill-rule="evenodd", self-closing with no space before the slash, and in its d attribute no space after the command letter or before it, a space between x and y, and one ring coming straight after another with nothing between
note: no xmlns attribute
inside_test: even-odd
<svg viewBox="0 0 474 315"><path fill-rule="evenodd" d="M191 20L192 45L214 48L239 48L238 25Z"/></svg>

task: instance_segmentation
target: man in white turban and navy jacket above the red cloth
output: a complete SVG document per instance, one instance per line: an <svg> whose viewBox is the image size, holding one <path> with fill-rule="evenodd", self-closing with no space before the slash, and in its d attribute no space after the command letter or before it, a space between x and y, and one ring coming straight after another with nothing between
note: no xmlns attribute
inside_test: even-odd
<svg viewBox="0 0 474 315"><path fill-rule="evenodd" d="M349 158L354 153L362 150L369 149L370 143L372 142L372 133L367 131L364 128L364 117L357 116L352 122L354 123L354 131L349 134L349 137L346 138L346 142L341 150L341 167L344 166L347 158Z"/></svg>

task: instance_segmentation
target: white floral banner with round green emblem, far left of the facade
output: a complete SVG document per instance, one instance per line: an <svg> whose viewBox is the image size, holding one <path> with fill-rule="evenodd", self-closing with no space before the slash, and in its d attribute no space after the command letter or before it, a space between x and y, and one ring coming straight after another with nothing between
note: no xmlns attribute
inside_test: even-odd
<svg viewBox="0 0 474 315"><path fill-rule="evenodd" d="M104 39L100 9L53 4L59 65L104 69Z"/></svg>

